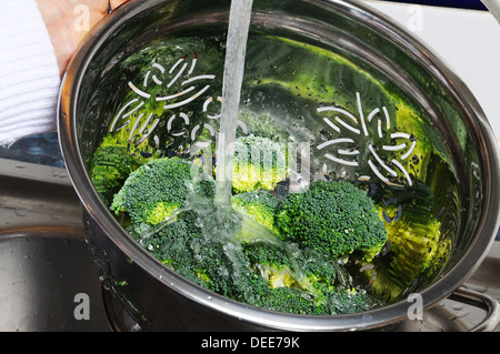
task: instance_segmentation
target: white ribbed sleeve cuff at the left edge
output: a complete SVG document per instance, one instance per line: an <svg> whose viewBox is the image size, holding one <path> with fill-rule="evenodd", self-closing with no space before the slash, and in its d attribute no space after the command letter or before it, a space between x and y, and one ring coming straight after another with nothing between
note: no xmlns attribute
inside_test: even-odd
<svg viewBox="0 0 500 354"><path fill-rule="evenodd" d="M56 131L58 62L34 0L1 0L0 145Z"/></svg>

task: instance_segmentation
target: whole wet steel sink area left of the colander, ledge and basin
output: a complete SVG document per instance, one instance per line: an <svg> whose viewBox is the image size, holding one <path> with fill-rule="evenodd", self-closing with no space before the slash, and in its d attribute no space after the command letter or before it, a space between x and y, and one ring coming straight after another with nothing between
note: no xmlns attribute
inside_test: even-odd
<svg viewBox="0 0 500 354"><path fill-rule="evenodd" d="M0 166L0 331L109 331L66 171Z"/></svg>

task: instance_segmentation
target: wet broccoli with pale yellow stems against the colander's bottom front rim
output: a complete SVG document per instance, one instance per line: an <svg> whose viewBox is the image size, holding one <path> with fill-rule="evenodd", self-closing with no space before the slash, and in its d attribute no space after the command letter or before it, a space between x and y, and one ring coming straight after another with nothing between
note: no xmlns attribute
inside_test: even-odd
<svg viewBox="0 0 500 354"><path fill-rule="evenodd" d="M271 242L243 243L250 269L268 284L259 287L259 307L298 314L341 314L370 309L372 299L352 284L337 282L328 255Z"/></svg>

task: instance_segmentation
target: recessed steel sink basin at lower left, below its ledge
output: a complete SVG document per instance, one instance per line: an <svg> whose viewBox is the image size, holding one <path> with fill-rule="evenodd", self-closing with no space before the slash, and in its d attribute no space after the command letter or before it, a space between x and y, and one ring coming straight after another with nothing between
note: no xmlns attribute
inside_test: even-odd
<svg viewBox="0 0 500 354"><path fill-rule="evenodd" d="M19 230L0 240L0 331L109 330L80 230Z"/></svg>

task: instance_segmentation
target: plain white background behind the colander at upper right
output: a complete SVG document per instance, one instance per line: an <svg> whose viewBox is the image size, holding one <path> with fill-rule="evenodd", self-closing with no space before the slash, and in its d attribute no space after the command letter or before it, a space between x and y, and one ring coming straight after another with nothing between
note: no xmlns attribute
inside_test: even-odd
<svg viewBox="0 0 500 354"><path fill-rule="evenodd" d="M421 39L469 87L500 143L500 23L487 11L364 0Z"/></svg>

